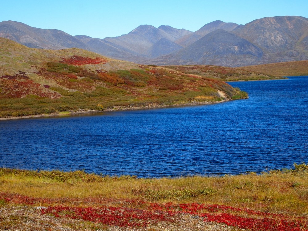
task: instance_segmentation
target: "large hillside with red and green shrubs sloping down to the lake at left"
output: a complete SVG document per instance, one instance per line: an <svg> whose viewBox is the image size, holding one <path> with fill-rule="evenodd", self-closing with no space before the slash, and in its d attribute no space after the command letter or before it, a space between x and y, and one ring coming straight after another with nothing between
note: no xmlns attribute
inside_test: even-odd
<svg viewBox="0 0 308 231"><path fill-rule="evenodd" d="M0 118L246 98L229 84L71 48L31 49L0 38Z"/></svg>

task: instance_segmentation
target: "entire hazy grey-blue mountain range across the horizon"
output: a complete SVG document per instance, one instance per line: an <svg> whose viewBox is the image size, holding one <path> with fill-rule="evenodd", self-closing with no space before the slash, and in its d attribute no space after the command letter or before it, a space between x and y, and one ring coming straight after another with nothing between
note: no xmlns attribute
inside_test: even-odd
<svg viewBox="0 0 308 231"><path fill-rule="evenodd" d="M140 25L128 34L104 39L3 21L0 37L30 48L76 47L113 59L156 65L240 67L308 59L308 18L300 16L266 17L245 25L217 20L195 32Z"/></svg>

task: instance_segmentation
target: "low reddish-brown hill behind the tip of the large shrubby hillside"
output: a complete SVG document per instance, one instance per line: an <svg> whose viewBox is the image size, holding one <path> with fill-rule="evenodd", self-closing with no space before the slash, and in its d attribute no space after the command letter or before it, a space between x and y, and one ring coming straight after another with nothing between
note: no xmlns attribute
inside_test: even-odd
<svg viewBox="0 0 308 231"><path fill-rule="evenodd" d="M253 68L233 68L220 67L213 65L188 65L188 66L165 66L166 68L180 71L182 73L206 76L222 81L238 81L238 80L264 80L264 79L282 79L279 75L269 74L270 72L256 71Z"/></svg>

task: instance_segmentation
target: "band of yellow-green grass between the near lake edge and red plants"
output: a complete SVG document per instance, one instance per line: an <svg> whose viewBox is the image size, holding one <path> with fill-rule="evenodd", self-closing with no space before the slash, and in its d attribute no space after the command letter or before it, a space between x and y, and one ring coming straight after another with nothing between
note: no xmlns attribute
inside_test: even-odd
<svg viewBox="0 0 308 231"><path fill-rule="evenodd" d="M73 198L80 201L85 198L112 198L175 204L219 204L289 215L308 213L307 169L271 171L261 175L250 173L160 179L98 176L82 171L79 171L79 177L61 178L61 174L74 175L76 172L53 171L40 176L33 172L0 169L0 192L66 198L67 205Z"/></svg>

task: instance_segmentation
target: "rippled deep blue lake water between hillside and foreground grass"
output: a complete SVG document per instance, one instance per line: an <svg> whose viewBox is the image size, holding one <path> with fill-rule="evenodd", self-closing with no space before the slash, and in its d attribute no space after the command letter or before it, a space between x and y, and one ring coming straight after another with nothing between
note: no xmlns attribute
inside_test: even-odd
<svg viewBox="0 0 308 231"><path fill-rule="evenodd" d="M0 121L0 165L163 177L307 162L308 76L230 84L249 99Z"/></svg>

